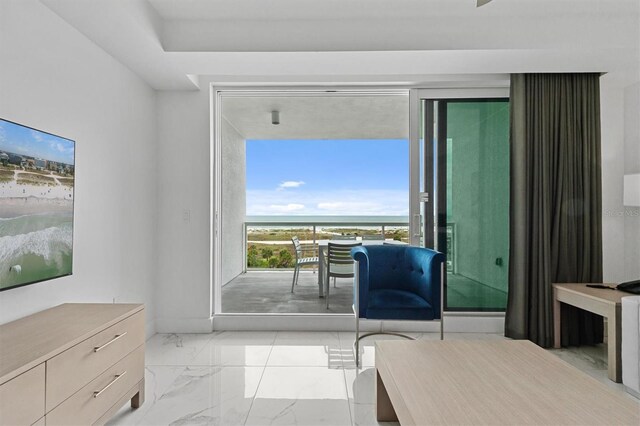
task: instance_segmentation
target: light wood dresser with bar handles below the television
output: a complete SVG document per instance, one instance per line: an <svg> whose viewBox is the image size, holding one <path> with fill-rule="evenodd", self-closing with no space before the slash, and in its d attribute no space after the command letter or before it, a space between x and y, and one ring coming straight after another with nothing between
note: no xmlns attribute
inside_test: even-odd
<svg viewBox="0 0 640 426"><path fill-rule="evenodd" d="M102 424L144 402L144 306L64 304L0 326L0 425Z"/></svg>

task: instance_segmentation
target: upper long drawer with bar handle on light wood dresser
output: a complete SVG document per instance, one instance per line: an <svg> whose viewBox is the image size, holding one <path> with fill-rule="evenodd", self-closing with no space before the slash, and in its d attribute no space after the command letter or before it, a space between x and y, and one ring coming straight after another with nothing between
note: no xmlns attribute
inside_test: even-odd
<svg viewBox="0 0 640 426"><path fill-rule="evenodd" d="M144 343L144 312L112 325L47 361L47 412Z"/></svg>

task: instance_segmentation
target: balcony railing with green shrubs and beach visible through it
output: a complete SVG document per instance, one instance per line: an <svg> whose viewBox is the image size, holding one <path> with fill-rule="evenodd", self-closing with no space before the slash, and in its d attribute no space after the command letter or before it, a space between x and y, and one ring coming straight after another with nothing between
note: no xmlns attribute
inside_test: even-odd
<svg viewBox="0 0 640 426"><path fill-rule="evenodd" d="M408 216L247 216L244 223L245 270L288 269L295 253L291 242L315 244L336 235L382 235L408 242Z"/></svg>

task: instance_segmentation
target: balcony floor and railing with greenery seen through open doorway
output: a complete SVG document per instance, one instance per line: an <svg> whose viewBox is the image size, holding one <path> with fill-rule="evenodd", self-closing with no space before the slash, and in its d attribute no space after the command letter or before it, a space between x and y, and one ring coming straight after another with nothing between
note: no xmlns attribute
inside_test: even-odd
<svg viewBox="0 0 640 426"><path fill-rule="evenodd" d="M295 252L291 237L314 244L336 236L382 235L408 242L407 216L248 216L244 270L222 287L223 313L351 313L352 279L331 283L331 305L319 297L315 267L303 267L291 293Z"/></svg>

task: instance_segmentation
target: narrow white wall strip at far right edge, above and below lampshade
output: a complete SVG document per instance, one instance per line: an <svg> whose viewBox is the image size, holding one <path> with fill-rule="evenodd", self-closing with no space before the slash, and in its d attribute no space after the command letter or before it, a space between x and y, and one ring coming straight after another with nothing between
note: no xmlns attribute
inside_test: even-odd
<svg viewBox="0 0 640 426"><path fill-rule="evenodd" d="M624 91L624 173L640 173L640 83ZM624 209L624 277L640 279L640 207Z"/></svg>

